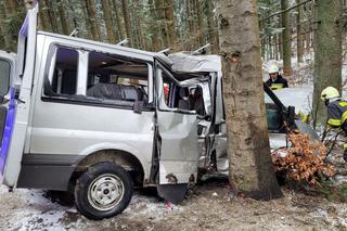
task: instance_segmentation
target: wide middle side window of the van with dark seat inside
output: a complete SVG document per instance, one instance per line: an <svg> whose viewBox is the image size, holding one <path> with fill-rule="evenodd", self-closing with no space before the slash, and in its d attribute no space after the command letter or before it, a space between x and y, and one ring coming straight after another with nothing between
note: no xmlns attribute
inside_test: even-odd
<svg viewBox="0 0 347 231"><path fill-rule="evenodd" d="M103 103L121 105L147 102L149 68L114 54L90 52L87 97L102 99ZM123 103L124 102L124 103ZM130 104L129 104L130 105Z"/></svg>

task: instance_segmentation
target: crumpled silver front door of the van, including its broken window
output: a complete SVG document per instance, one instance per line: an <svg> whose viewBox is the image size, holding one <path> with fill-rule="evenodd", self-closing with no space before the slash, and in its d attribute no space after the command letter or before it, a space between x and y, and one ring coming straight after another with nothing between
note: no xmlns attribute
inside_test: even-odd
<svg viewBox="0 0 347 231"><path fill-rule="evenodd" d="M197 117L189 105L190 86L175 80L158 63L155 72L158 193L178 203L183 198L188 183L196 179Z"/></svg>

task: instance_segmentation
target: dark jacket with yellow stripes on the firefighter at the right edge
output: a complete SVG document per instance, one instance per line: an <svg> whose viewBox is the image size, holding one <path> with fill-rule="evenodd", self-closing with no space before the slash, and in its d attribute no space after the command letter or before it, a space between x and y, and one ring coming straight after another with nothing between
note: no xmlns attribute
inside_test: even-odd
<svg viewBox="0 0 347 231"><path fill-rule="evenodd" d="M327 125L332 127L342 127L347 131L347 102L334 101L327 104Z"/></svg>

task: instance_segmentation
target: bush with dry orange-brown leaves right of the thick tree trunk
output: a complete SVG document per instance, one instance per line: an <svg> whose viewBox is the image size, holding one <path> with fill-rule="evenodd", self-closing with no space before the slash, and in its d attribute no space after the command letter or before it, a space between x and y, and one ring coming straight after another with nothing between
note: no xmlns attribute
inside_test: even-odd
<svg viewBox="0 0 347 231"><path fill-rule="evenodd" d="M272 162L279 174L295 182L319 184L319 175L332 177L335 169L325 163L326 149L320 141L311 141L308 134L295 130L288 134L288 149L272 153Z"/></svg>

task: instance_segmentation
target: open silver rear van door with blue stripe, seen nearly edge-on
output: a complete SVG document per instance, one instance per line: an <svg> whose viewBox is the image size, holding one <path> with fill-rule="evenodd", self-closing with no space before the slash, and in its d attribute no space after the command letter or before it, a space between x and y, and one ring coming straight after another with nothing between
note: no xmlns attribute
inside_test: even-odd
<svg viewBox="0 0 347 231"><path fill-rule="evenodd" d="M36 53L37 13L38 4L28 11L18 34L15 75L22 78L21 91L18 100L15 100L14 89L11 90L10 110L1 143L0 182L11 188L16 184L18 179L27 133Z"/></svg>

